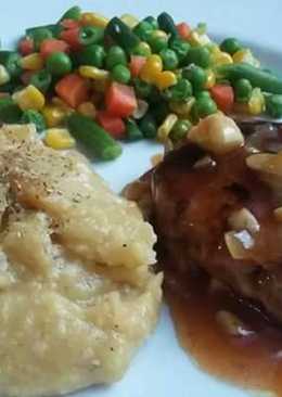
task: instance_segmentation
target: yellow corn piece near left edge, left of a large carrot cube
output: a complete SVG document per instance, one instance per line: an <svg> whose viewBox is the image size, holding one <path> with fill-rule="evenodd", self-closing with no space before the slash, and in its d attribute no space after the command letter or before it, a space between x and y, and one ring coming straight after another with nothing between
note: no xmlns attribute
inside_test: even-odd
<svg viewBox="0 0 282 397"><path fill-rule="evenodd" d="M44 95L35 86L27 86L13 94L13 100L18 104L22 111L29 108L40 111L46 103Z"/></svg>

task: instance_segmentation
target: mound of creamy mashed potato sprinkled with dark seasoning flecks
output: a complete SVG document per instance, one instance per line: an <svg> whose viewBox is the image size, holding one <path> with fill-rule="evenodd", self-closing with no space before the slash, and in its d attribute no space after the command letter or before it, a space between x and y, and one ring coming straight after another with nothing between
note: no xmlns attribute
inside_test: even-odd
<svg viewBox="0 0 282 397"><path fill-rule="evenodd" d="M0 130L0 395L120 379L158 316L151 226L31 127Z"/></svg>

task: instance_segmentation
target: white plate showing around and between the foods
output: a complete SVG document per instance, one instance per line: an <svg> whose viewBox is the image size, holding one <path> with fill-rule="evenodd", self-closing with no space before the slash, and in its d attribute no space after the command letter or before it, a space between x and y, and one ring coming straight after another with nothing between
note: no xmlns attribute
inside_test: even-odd
<svg viewBox="0 0 282 397"><path fill-rule="evenodd" d="M140 16L170 12L177 21L192 25L207 22L216 37L236 36L256 50L266 65L282 72L281 0L118 0L77 1L84 10L105 15L133 13ZM3 44L23 34L28 26L52 23L74 5L68 0L0 0L0 36ZM150 158L159 153L157 144L127 144L116 162L99 164L95 169L116 191L150 167ZM256 394L257 395L257 394ZM244 397L248 393L227 385L201 372L179 347L167 308L157 330L143 345L123 381L111 387L93 387L74 397Z"/></svg>

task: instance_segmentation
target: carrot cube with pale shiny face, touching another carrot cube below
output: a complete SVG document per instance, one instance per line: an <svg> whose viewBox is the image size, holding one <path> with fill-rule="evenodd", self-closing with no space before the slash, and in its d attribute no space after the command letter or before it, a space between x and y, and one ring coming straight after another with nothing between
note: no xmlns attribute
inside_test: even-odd
<svg viewBox="0 0 282 397"><path fill-rule="evenodd" d="M107 112L113 116L130 116L137 108L133 88L119 82L113 82L106 90L105 104Z"/></svg>

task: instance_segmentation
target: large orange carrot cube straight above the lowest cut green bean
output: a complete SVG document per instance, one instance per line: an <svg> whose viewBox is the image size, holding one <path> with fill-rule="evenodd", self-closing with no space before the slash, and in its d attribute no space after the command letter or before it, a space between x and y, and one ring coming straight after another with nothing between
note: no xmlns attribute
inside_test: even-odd
<svg viewBox="0 0 282 397"><path fill-rule="evenodd" d="M72 107L77 107L89 99L87 80L74 73L64 76L55 85L55 92Z"/></svg>

